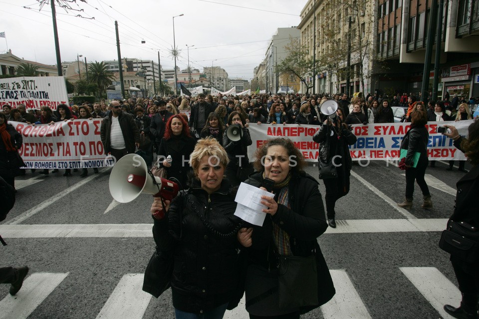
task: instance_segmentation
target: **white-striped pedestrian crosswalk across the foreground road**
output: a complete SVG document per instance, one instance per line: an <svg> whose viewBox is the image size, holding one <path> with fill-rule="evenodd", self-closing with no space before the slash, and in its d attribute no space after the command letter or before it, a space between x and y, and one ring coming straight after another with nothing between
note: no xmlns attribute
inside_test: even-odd
<svg viewBox="0 0 479 319"><path fill-rule="evenodd" d="M445 304L459 305L461 294L458 288L437 268L402 267L404 276L424 296L430 305L444 318L452 318L443 310ZM355 288L346 270L331 270L336 295L321 306L324 319L372 319L368 307ZM29 275L16 296L7 295L0 301L0 319L25 319L68 276L68 273L33 273ZM150 303L156 299L141 290L143 274L126 274L105 302L97 319L141 319ZM161 317L167 318L167 317ZM247 319L244 296L238 308L227 311L225 319Z"/></svg>

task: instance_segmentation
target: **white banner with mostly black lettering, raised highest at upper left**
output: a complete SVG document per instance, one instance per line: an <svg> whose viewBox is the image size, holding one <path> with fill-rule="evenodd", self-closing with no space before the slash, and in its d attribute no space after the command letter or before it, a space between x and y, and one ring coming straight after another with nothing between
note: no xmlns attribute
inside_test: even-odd
<svg viewBox="0 0 479 319"><path fill-rule="evenodd" d="M68 104L65 79L62 76L35 76L0 79L0 107L16 108L25 104L26 110L48 106L56 110L58 104Z"/></svg>

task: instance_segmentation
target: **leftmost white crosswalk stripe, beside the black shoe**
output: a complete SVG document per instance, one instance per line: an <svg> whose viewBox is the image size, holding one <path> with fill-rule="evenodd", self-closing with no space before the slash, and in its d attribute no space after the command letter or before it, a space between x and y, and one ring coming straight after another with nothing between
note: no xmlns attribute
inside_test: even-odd
<svg viewBox="0 0 479 319"><path fill-rule="evenodd" d="M15 296L0 301L0 319L27 318L69 273L34 273Z"/></svg>

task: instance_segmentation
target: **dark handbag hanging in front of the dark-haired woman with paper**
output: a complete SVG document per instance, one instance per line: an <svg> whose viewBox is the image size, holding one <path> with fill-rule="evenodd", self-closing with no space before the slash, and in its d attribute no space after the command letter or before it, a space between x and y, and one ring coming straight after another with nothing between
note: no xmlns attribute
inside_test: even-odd
<svg viewBox="0 0 479 319"><path fill-rule="evenodd" d="M316 256L279 256L279 308L318 305Z"/></svg>

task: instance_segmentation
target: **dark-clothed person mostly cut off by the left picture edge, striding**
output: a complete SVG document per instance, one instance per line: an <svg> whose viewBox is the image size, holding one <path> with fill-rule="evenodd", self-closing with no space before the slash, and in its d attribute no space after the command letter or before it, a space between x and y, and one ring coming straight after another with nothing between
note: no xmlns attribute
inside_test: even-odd
<svg viewBox="0 0 479 319"><path fill-rule="evenodd" d="M0 177L0 221L6 218L6 214L15 203L15 190L3 178ZM0 236L3 246L6 243ZM0 284L10 284L10 295L14 296L21 288L23 280L28 273L28 267L20 268L1 267L0 268Z"/></svg>

